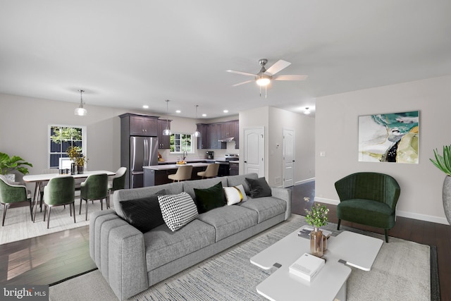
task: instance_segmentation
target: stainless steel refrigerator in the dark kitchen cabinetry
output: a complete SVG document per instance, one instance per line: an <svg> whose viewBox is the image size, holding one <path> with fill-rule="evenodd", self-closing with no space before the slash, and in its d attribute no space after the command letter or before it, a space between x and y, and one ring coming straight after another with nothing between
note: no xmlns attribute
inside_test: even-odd
<svg viewBox="0 0 451 301"><path fill-rule="evenodd" d="M130 188L143 186L142 166L158 165L157 137L130 137Z"/></svg>

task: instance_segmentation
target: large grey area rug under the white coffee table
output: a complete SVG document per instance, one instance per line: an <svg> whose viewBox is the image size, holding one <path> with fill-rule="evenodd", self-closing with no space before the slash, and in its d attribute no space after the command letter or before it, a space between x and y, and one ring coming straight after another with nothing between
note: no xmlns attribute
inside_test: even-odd
<svg viewBox="0 0 451 301"><path fill-rule="evenodd" d="M249 259L304 224L303 216L293 214L285 223L230 247L130 300L266 300L255 288L276 268L264 271ZM325 228L333 235L355 231L345 226L336 231L333 223ZM383 239L383 235L363 233ZM347 281L347 300L438 300L435 293L431 294L431 287L438 284L431 285L430 250L428 245L390 237L389 243L383 243L371 271L352 269ZM438 281L438 276L432 279ZM117 297L95 270L51 285L49 300L117 300Z"/></svg>

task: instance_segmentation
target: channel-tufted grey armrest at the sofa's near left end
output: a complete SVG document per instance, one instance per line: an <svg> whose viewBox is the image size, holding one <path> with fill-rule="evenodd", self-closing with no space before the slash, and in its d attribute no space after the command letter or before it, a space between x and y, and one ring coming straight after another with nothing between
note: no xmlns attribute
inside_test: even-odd
<svg viewBox="0 0 451 301"><path fill-rule="evenodd" d="M89 253L119 300L149 287L144 235L113 210L89 217Z"/></svg>

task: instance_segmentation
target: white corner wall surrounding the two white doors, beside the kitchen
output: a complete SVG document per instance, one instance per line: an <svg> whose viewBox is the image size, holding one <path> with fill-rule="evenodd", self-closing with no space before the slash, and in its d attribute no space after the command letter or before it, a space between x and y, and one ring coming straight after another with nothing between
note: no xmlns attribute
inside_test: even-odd
<svg viewBox="0 0 451 301"><path fill-rule="evenodd" d="M295 183L302 183L315 177L314 141L315 120L304 114L292 113L282 109L264 106L258 109L240 112L240 137L244 129L264 128L265 178L271 186L283 183L283 129L295 130ZM244 147L240 141L240 150ZM279 145L277 147L277 145ZM241 157L244 154L240 154ZM240 173L244 173L240 161Z"/></svg>

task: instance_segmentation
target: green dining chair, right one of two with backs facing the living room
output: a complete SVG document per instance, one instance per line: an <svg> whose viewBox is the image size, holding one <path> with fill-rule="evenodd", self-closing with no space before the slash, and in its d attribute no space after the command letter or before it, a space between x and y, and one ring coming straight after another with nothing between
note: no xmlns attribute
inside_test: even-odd
<svg viewBox="0 0 451 301"><path fill-rule="evenodd" d="M100 208L104 209L103 199L108 199L108 176L106 173L90 175L80 184L80 213L82 214L82 201L86 202L86 220L88 201L100 200Z"/></svg>

